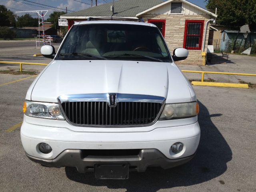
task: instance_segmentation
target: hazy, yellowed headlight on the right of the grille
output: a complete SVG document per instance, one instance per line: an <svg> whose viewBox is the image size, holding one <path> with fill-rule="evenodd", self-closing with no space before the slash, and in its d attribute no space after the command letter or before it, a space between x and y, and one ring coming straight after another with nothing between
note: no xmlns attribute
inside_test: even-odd
<svg viewBox="0 0 256 192"><path fill-rule="evenodd" d="M199 112L197 102L165 104L159 120L187 118L196 116Z"/></svg>

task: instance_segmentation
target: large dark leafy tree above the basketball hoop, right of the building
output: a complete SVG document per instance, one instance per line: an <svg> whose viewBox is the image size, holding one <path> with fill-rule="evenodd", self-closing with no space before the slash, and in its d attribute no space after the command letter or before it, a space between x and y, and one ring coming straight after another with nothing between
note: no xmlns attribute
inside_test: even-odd
<svg viewBox="0 0 256 192"><path fill-rule="evenodd" d="M208 0L206 8L215 12L217 24L241 27L248 24L256 29L256 0Z"/></svg>

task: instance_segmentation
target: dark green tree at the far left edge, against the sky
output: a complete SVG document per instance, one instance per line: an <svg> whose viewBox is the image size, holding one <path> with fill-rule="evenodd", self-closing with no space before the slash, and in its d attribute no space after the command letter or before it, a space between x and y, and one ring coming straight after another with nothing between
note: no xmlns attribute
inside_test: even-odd
<svg viewBox="0 0 256 192"><path fill-rule="evenodd" d="M15 27L16 15L8 10L6 6L0 5L0 26Z"/></svg>

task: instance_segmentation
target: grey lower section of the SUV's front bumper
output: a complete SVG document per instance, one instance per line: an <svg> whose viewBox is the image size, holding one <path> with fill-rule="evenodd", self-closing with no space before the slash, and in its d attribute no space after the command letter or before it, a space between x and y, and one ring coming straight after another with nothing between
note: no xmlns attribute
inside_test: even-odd
<svg viewBox="0 0 256 192"><path fill-rule="evenodd" d="M64 150L55 159L48 160L36 158L26 153L28 158L36 163L50 167L76 167L78 172L94 171L95 164L122 164L128 163L130 171L145 172L148 166L159 166L163 169L179 166L191 160L195 154L178 159L168 159L157 149L143 149L136 156L104 157L104 156L85 156L82 150L67 149Z"/></svg>

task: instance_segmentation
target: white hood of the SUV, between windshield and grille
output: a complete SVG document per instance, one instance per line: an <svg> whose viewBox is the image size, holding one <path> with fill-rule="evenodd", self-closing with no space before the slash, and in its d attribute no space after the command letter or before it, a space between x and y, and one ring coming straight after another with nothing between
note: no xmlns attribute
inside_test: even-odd
<svg viewBox="0 0 256 192"><path fill-rule="evenodd" d="M190 102L186 78L173 63L120 60L54 60L36 78L26 99L57 102L66 94L124 93Z"/></svg>

